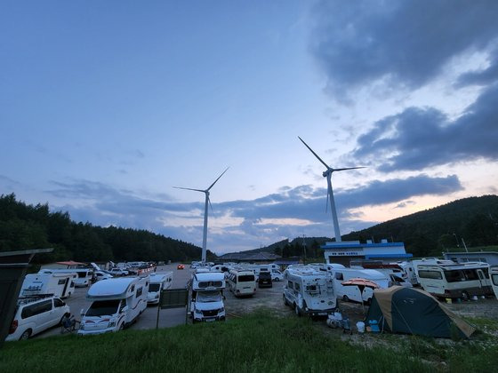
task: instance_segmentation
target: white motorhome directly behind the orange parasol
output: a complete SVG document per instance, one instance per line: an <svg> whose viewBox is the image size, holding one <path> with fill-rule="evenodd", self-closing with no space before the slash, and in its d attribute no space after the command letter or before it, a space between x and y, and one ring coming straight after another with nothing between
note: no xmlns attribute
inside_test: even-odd
<svg viewBox="0 0 498 373"><path fill-rule="evenodd" d="M341 264L326 264L319 266L321 271L333 274L333 287L337 298L344 301L352 300L358 303L369 303L374 297L374 290L368 287L360 292L357 286L344 286L342 282L353 278L370 280L379 285L380 289L387 289L390 285L390 278L374 269L347 268Z"/></svg>

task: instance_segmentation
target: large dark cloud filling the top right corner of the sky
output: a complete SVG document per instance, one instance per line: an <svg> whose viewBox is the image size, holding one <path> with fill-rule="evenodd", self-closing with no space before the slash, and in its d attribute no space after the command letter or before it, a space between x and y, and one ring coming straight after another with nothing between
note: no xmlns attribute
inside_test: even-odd
<svg viewBox="0 0 498 373"><path fill-rule="evenodd" d="M321 1L311 50L336 97L363 84L419 88L454 57L489 51L494 0Z"/></svg>

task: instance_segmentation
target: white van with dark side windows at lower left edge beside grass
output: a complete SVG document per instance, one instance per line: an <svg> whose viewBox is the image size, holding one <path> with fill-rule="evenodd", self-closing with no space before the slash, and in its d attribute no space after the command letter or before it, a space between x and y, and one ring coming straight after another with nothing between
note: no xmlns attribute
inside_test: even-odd
<svg viewBox="0 0 498 373"><path fill-rule="evenodd" d="M36 296L19 298L6 341L28 339L45 329L59 325L70 315L69 306L60 298Z"/></svg>

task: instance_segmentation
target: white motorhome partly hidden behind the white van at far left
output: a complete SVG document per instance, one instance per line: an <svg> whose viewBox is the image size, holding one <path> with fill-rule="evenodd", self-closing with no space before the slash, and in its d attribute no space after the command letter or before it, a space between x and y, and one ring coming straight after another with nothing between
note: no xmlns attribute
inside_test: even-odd
<svg viewBox="0 0 498 373"><path fill-rule="evenodd" d="M20 288L20 296L52 294L69 298L75 292L76 273L27 274Z"/></svg>

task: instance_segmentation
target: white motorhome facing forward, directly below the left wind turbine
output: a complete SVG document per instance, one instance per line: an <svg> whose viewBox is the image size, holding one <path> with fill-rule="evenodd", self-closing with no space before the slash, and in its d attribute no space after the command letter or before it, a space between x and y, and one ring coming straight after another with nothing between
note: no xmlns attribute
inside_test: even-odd
<svg viewBox="0 0 498 373"><path fill-rule="evenodd" d="M192 275L190 313L193 322L225 320L224 289L225 275L221 272Z"/></svg>

